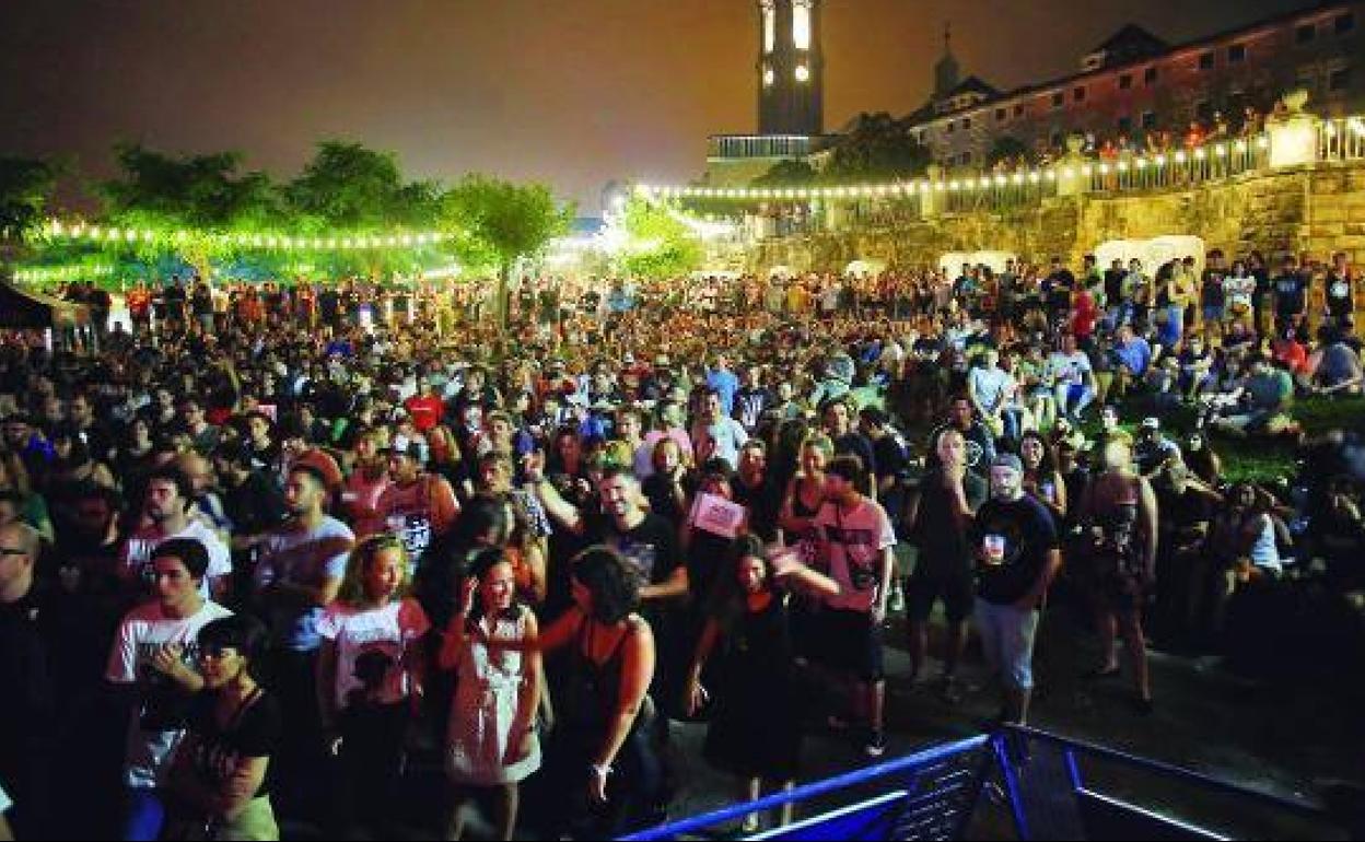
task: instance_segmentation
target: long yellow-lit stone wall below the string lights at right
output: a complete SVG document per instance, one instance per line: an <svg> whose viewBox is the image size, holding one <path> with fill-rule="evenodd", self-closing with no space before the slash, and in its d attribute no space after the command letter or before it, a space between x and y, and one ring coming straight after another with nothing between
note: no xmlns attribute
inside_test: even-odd
<svg viewBox="0 0 1365 842"><path fill-rule="evenodd" d="M1316 164L1141 194L1085 194L999 213L943 214L895 228L764 240L748 267L837 272L854 259L936 263L949 251L1013 251L1073 265L1106 240L1193 235L1230 255L1346 251L1365 265L1365 161Z"/></svg>

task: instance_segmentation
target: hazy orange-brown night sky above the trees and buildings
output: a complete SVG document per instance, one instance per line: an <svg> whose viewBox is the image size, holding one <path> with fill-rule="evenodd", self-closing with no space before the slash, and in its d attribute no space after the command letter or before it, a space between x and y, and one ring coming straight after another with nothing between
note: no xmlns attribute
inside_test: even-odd
<svg viewBox="0 0 1365 842"><path fill-rule="evenodd" d="M1072 72L1133 20L1170 41L1294 0L826 0L826 120L927 97L953 20L968 74ZM753 0L0 0L0 153L116 139L236 149L296 172L315 141L397 151L408 173L539 179L598 210L610 179L682 182L704 138L755 130Z"/></svg>

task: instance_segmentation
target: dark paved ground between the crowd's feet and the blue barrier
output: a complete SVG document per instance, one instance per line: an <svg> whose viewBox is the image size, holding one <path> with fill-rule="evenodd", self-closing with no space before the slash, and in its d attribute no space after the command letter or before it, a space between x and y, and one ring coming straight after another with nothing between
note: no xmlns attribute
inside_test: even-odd
<svg viewBox="0 0 1365 842"><path fill-rule="evenodd" d="M996 697L979 692L950 704L932 686L909 688L905 681L909 660L901 633L900 620L893 618L887 629L887 757L980 733L999 707ZM1076 614L1065 607L1050 610L1037 647L1039 692L1033 726L1294 798L1316 798L1323 779L1365 783L1365 766L1360 761L1365 756L1361 700L1345 693L1339 684L1268 686L1237 678L1209 658L1155 652L1158 704L1152 714L1143 715L1127 703L1130 691L1123 681L1096 685L1081 678L1095 656L1093 640ZM934 669L938 669L936 662ZM964 678L968 684L983 678L975 654L969 656ZM733 802L737 783L700 759L704 725L674 723L672 733L682 787L670 817ZM867 763L870 760L844 736L816 729L805 744L804 779L824 778ZM1112 767L1088 767L1087 776L1134 802L1219 827L1226 823L1228 830L1245 835L1332 837L1323 826L1283 822L1269 812L1257 813L1204 794L1196 798L1188 787L1118 774ZM435 781L430 783L437 786ZM423 802L431 804L426 798ZM423 824L425 830L410 828L401 835L433 838L434 817ZM306 828L287 827L287 835L311 834ZM972 827L972 837L1013 838L1007 813L987 804Z"/></svg>

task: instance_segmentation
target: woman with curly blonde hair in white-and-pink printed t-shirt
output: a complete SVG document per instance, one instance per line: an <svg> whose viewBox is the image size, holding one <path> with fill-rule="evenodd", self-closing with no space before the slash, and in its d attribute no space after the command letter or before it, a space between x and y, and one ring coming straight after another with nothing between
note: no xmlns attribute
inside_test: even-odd
<svg viewBox="0 0 1365 842"><path fill-rule="evenodd" d="M403 540L371 535L351 551L337 598L318 621L318 710L341 767L339 819L360 808L363 823L382 822L399 793L431 628L407 585Z"/></svg>

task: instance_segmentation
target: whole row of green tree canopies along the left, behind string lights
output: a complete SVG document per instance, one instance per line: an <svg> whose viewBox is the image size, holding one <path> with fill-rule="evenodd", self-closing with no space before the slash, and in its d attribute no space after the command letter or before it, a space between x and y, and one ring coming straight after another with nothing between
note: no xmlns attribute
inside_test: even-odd
<svg viewBox="0 0 1365 842"><path fill-rule="evenodd" d="M573 214L543 184L471 175L446 190L405 177L393 153L349 141L318 143L288 182L247 171L236 151L175 156L128 143L115 147L115 161L116 175L96 186L101 210L94 220L130 236L90 244L59 235L46 252L75 257L94 248L145 265L183 258L199 272L217 266L240 274L248 267L247 276L265 277L298 274L300 266L332 276L412 272L453 254L467 269L505 273L517 258L534 257L566 233ZM57 175L44 161L0 158L0 232L40 222ZM448 239L401 251L321 243L396 232ZM285 250L262 248L251 242L262 233L298 242Z"/></svg>

